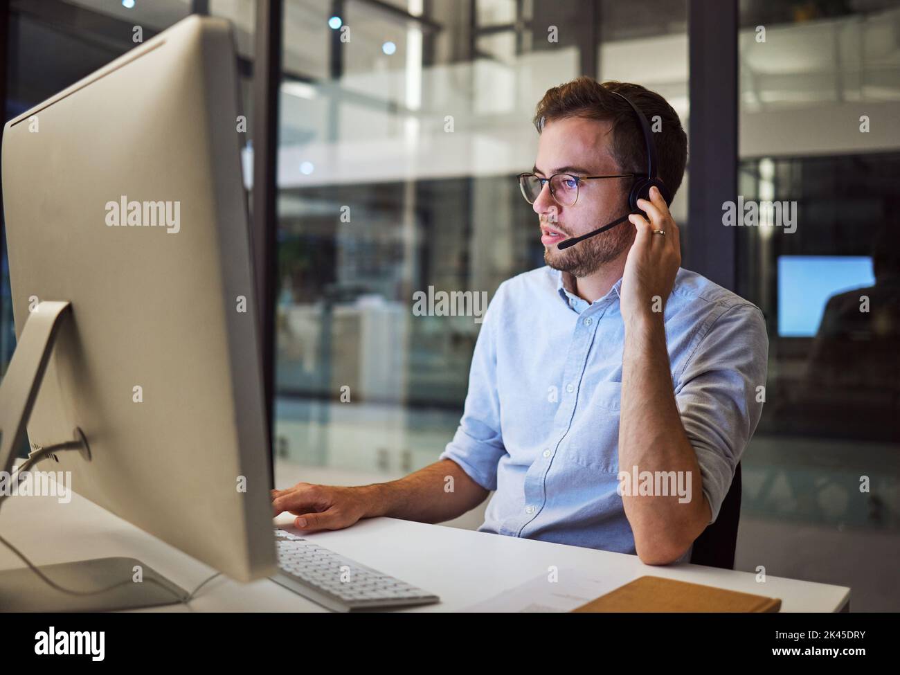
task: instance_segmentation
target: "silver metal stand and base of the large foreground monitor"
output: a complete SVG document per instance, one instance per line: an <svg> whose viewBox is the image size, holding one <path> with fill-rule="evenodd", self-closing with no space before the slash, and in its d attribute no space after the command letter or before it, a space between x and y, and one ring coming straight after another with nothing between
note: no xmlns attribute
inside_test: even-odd
<svg viewBox="0 0 900 675"><path fill-rule="evenodd" d="M0 471L4 475L13 469L15 449L25 433L59 327L71 311L69 302L40 302L29 313L0 382ZM60 451L78 449L87 461L91 458L87 439L79 428L72 440L52 447ZM90 612L171 605L187 599L184 589L134 558L96 558L37 569L58 586L75 592L53 588L27 567L6 570L0 572L0 611ZM111 586L115 588L92 592Z"/></svg>

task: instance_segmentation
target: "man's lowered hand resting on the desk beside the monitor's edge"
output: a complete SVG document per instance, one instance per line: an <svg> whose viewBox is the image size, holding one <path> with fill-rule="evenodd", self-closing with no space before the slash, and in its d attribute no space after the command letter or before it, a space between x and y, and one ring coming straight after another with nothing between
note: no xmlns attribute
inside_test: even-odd
<svg viewBox="0 0 900 675"><path fill-rule="evenodd" d="M293 513L297 517L294 526L307 531L350 527L365 517L370 499L365 488L308 482L299 482L287 490L272 491L275 516L284 511Z"/></svg>

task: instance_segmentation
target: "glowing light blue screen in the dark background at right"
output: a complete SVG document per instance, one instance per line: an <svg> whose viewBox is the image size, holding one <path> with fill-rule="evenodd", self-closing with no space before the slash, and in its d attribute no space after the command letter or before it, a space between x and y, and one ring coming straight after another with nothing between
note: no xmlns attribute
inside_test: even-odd
<svg viewBox="0 0 900 675"><path fill-rule="evenodd" d="M825 304L875 284L867 256L779 256L779 338L813 338Z"/></svg>

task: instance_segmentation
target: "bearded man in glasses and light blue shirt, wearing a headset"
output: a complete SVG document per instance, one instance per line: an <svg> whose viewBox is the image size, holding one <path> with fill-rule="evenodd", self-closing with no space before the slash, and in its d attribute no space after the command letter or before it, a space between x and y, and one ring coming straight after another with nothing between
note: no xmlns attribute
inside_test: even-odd
<svg viewBox="0 0 900 675"><path fill-rule="evenodd" d="M760 419L768 338L759 308L680 268L679 229L655 188L630 224L557 247L626 214L621 175L646 169L635 112L612 91L662 123L660 178L674 196L687 139L662 96L588 77L547 91L536 177L521 179L547 266L491 300L454 439L399 481L273 491L276 514L304 530L438 523L496 491L482 532L689 560Z"/></svg>

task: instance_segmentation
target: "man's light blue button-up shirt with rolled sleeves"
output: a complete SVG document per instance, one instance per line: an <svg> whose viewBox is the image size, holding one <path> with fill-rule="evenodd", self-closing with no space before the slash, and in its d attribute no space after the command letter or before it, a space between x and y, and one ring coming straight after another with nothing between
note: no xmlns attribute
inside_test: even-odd
<svg viewBox="0 0 900 675"><path fill-rule="evenodd" d="M617 492L621 284L592 303L571 292L571 275L548 266L500 284L475 344L463 418L440 455L495 491L480 532L635 554ZM713 522L765 400L765 320L683 268L663 318L675 401Z"/></svg>

